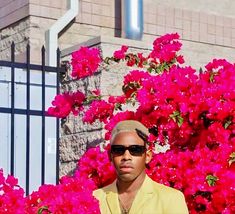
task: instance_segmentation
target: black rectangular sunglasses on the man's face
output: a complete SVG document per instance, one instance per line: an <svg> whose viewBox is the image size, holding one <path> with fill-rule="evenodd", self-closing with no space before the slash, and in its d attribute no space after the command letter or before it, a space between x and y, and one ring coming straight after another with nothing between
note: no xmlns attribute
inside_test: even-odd
<svg viewBox="0 0 235 214"><path fill-rule="evenodd" d="M145 151L146 147L141 145L131 145L131 146L123 146L123 145L111 145L111 154L120 156L128 150L133 156L141 156Z"/></svg>

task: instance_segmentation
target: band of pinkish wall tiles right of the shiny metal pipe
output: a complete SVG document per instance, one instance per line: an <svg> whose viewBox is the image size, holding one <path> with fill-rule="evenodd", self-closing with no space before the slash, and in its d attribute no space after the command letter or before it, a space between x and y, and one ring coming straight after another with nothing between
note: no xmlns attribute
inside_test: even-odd
<svg viewBox="0 0 235 214"><path fill-rule="evenodd" d="M221 14L148 2L145 4L146 34L179 32L183 40L235 47L235 14L225 16L225 11Z"/></svg>

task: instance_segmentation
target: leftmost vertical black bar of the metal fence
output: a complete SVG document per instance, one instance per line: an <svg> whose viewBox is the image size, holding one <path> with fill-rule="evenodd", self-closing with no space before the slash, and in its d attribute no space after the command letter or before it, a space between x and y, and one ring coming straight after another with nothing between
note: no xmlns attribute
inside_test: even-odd
<svg viewBox="0 0 235 214"><path fill-rule="evenodd" d="M15 163L15 43L11 44L11 168L10 173L14 175Z"/></svg>

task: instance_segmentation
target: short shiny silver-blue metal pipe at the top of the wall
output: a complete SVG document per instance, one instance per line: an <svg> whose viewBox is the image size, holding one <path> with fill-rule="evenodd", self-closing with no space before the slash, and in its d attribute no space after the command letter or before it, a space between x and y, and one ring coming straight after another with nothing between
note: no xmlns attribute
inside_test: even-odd
<svg viewBox="0 0 235 214"><path fill-rule="evenodd" d="M143 23L143 0L122 0L122 37L141 40Z"/></svg>

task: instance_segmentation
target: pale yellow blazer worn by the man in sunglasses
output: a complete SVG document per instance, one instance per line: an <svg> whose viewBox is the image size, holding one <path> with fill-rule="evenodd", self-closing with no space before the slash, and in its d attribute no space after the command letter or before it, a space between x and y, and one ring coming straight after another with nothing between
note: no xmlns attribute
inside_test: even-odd
<svg viewBox="0 0 235 214"><path fill-rule="evenodd" d="M116 181L95 190L102 214L120 214ZM129 214L188 214L182 192L154 182L147 175L132 203Z"/></svg>

